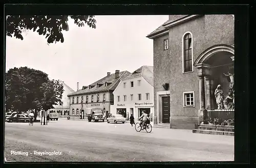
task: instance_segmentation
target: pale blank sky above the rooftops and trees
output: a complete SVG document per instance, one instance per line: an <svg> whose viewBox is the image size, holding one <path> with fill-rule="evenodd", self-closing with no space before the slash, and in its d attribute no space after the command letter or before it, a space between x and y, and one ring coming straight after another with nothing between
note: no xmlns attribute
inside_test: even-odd
<svg viewBox="0 0 256 168"><path fill-rule="evenodd" d="M78 27L69 19L64 42L47 44L45 36L26 31L24 40L6 38L6 71L28 66L50 79L64 81L79 89L106 76L107 72L132 73L143 65L153 66L153 32L168 15L95 16L96 29Z"/></svg>

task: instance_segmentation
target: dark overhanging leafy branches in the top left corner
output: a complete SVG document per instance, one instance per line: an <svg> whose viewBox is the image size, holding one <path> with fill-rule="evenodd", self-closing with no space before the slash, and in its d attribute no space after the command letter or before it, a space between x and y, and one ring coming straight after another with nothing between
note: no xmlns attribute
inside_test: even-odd
<svg viewBox="0 0 256 168"><path fill-rule="evenodd" d="M23 30L33 30L46 36L48 43L64 42L62 30L69 31L68 19L74 20L78 27L88 25L96 28L94 15L10 15L6 20L6 35L23 40Z"/></svg>

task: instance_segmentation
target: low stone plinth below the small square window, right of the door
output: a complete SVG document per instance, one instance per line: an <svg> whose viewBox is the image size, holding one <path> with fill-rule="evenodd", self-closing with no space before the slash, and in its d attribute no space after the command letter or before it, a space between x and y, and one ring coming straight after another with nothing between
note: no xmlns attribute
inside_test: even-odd
<svg viewBox="0 0 256 168"><path fill-rule="evenodd" d="M199 117L170 116L170 128L194 129L199 123Z"/></svg>

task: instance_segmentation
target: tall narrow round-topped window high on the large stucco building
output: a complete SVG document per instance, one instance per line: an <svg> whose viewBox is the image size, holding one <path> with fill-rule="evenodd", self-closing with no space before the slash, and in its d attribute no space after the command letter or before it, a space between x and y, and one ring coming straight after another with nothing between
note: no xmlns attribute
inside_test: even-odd
<svg viewBox="0 0 256 168"><path fill-rule="evenodd" d="M193 71L193 41L192 34L186 33L183 37L183 72Z"/></svg>

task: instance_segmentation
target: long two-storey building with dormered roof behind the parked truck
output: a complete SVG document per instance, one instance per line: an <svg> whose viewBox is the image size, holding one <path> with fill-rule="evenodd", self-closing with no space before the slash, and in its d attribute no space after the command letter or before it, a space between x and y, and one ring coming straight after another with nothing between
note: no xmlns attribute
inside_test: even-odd
<svg viewBox="0 0 256 168"><path fill-rule="evenodd" d="M81 113L82 118L84 118L87 108L101 108L104 111L104 116L108 117L110 105L114 104L113 91L120 80L130 74L126 70L121 72L120 70L116 70L115 74L107 73L104 78L89 86L83 86L82 89L69 94L70 117L79 118Z"/></svg>

